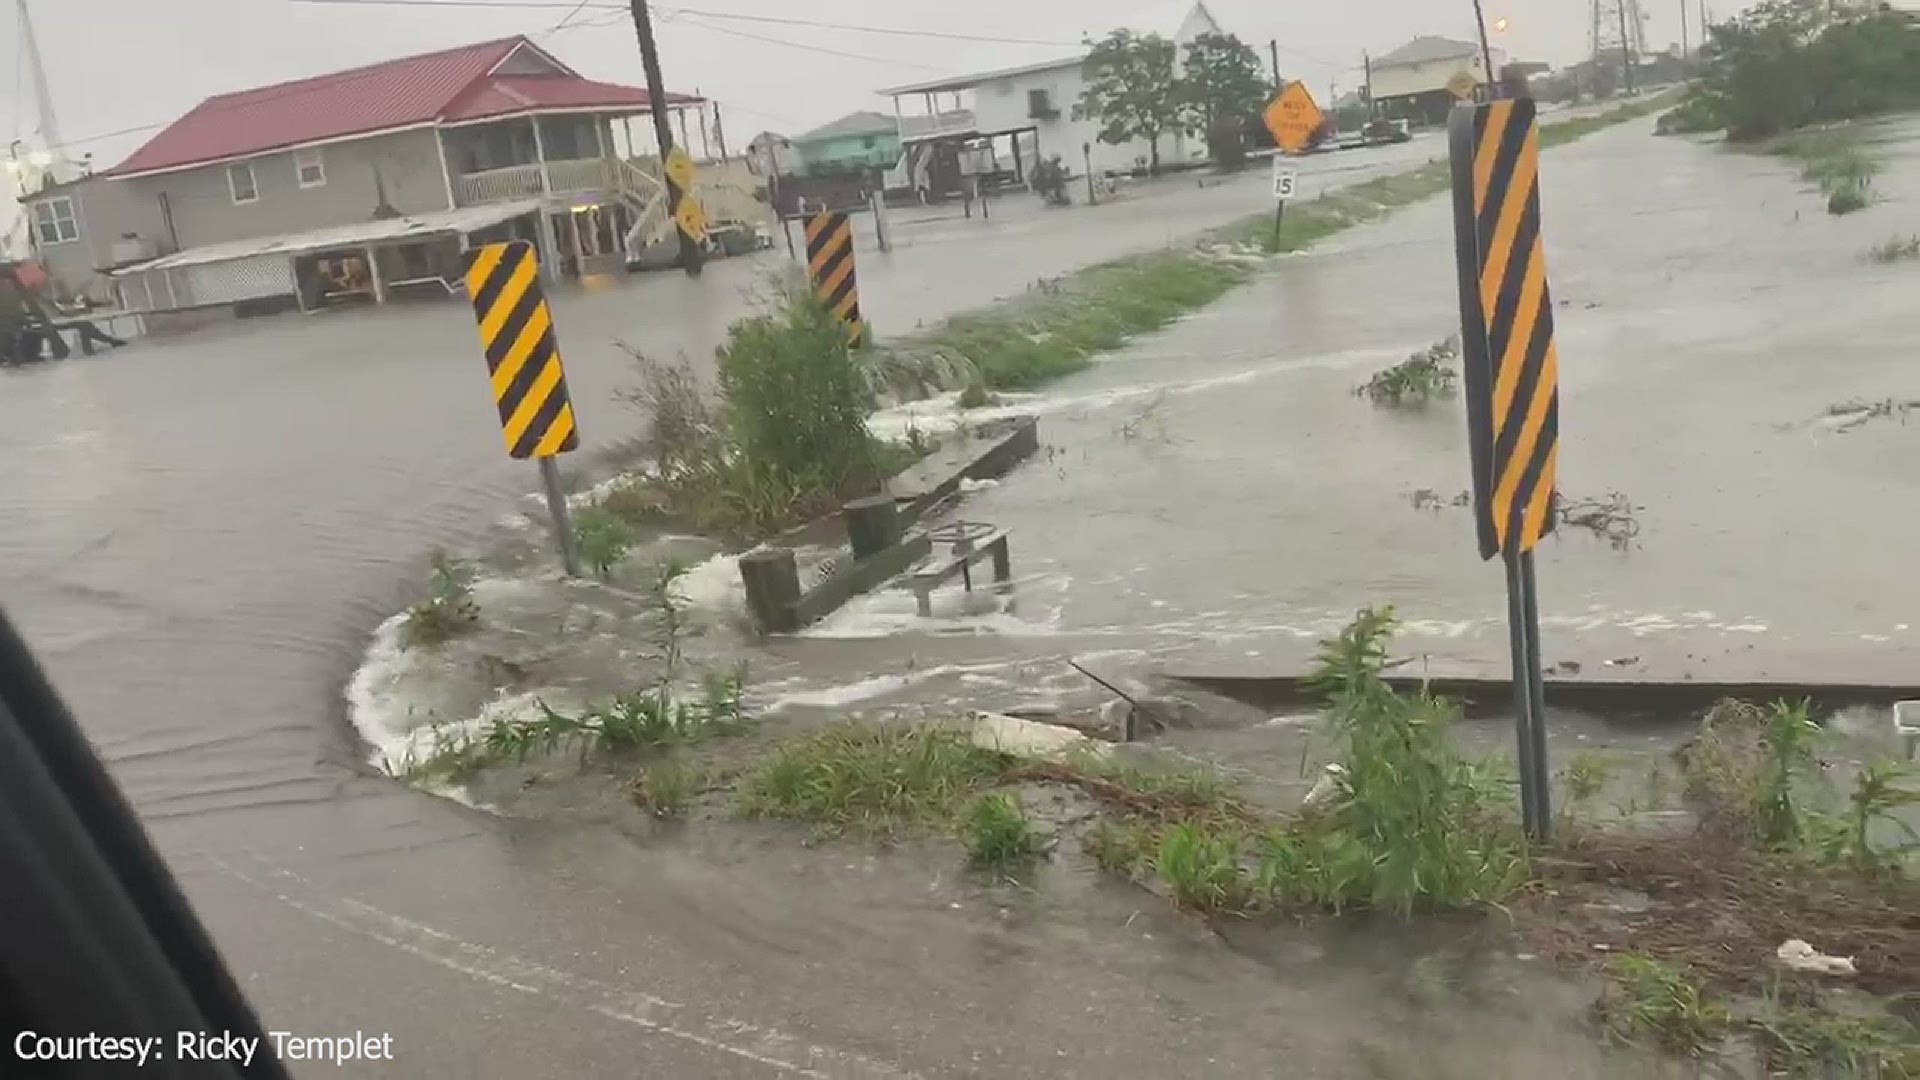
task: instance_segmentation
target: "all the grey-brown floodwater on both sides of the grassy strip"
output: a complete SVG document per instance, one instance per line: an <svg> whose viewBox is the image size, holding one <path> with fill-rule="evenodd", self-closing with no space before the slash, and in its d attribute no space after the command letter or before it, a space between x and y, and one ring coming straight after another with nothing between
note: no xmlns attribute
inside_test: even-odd
<svg viewBox="0 0 1920 1080"><path fill-rule="evenodd" d="M1549 659L1889 665L1920 600L1901 561L1914 480L1895 465L1912 429L1814 421L1916 390L1899 365L1910 273L1859 261L1910 229L1908 167L1882 179L1885 206L1834 221L1780 161L1644 127L1555 150L1544 173L1565 486L1645 505L1638 548L1567 536L1542 557ZM902 332L1160 244L1173 223L1260 209L1261 188L1246 175L1133 208L1016 208L972 234L912 225L891 259L862 263L868 309ZM1012 684L1010 653L1083 646L1265 665L1398 601L1419 648L1498 659L1500 582L1469 521L1409 503L1465 486L1457 405L1411 417L1350 396L1450 332L1446 221L1430 202L1346 233L1033 402L1052 459L964 509L1014 528L1018 611L851 642L900 628L877 598L774 651L881 694L904 684L885 682L895 671L943 663L960 684ZM634 430L612 338L705 357L781 261L561 298L588 448ZM1405 1061L1373 1024L1398 1015L1375 1011L1398 944L1334 980L1323 940L1223 955L1133 890L1008 897L912 853L822 857L768 836L639 849L371 776L340 703L367 634L419 588L430 546L478 542L534 486L499 454L478 363L470 315L447 304L234 325L0 379L8 607L271 1026L392 1032L397 1063L355 1070L388 1076L1190 1076L1283 1055L1298 1076L1430 1076L1455 1051L1463 1076L1567 1065L1578 995L1478 1055L1484 1030L1459 1024ZM1519 986L1488 994L1549 999Z"/></svg>

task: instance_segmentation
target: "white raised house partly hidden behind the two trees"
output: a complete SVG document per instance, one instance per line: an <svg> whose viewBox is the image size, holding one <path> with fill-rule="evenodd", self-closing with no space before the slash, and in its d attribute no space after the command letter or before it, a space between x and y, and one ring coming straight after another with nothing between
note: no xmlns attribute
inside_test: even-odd
<svg viewBox="0 0 1920 1080"><path fill-rule="evenodd" d="M1181 50L1200 35L1225 33L1204 2L1183 2L1117 25L1137 33L1156 33ZM1137 138L1119 146L1100 142L1098 121L1073 119L1073 104L1085 88L1081 75L1085 60L1087 50L1077 48L1037 63L908 83L879 92L893 98L908 158L914 158L916 144L987 144L993 167L1010 171L1016 179L1025 179L1035 161L1052 156L1060 156L1075 173L1089 158L1096 171L1146 165L1150 156L1146 140ZM1177 133L1160 138L1162 163L1204 154L1204 138Z"/></svg>

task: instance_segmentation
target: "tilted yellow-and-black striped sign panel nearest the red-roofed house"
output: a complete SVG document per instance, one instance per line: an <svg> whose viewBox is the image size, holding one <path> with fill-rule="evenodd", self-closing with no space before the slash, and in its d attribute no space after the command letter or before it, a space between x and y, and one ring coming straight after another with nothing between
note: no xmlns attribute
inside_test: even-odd
<svg viewBox="0 0 1920 1080"><path fill-rule="evenodd" d="M553 313L540 290L540 261L526 240L488 244L467 256L467 294L480 321L480 348L507 454L553 457L580 448L566 373L553 340Z"/></svg>

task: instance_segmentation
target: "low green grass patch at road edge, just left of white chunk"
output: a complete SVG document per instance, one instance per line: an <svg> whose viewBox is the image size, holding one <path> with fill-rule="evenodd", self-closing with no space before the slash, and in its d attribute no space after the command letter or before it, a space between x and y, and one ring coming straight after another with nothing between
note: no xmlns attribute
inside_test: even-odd
<svg viewBox="0 0 1920 1080"><path fill-rule="evenodd" d="M1006 771L1006 757L979 749L966 732L835 724L781 744L747 774L739 809L828 834L899 836L948 821Z"/></svg>

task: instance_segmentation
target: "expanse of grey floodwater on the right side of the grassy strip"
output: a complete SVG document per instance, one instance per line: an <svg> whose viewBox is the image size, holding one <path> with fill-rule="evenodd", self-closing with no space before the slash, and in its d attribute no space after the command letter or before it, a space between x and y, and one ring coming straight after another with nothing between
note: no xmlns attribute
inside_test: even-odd
<svg viewBox="0 0 1920 1080"><path fill-rule="evenodd" d="M1540 550L1546 659L1590 676L1908 680L1920 482L1903 461L1920 427L1828 413L1920 398L1916 271L1862 258L1920 225L1912 125L1882 129L1899 140L1882 202L1853 217L1826 215L1782 160L1649 127L1542 167L1561 490L1620 492L1640 527L1624 550L1576 528ZM1404 651L1500 676L1501 573L1452 505L1469 486L1461 404L1354 396L1457 329L1452 273L1448 206L1427 202L1020 402L1043 413L1046 461L962 513L1010 528L1027 578L1018 619L973 628L1284 675L1357 607L1394 603ZM876 598L820 634L910 625L910 605Z"/></svg>

